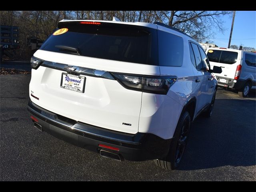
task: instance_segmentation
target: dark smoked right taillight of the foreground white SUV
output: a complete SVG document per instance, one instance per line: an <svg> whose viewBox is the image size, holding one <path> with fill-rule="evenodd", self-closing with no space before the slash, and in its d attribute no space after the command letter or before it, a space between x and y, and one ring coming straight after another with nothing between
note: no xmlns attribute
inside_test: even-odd
<svg viewBox="0 0 256 192"><path fill-rule="evenodd" d="M111 73L125 88L146 93L167 94L177 80L176 76L144 76Z"/></svg>

